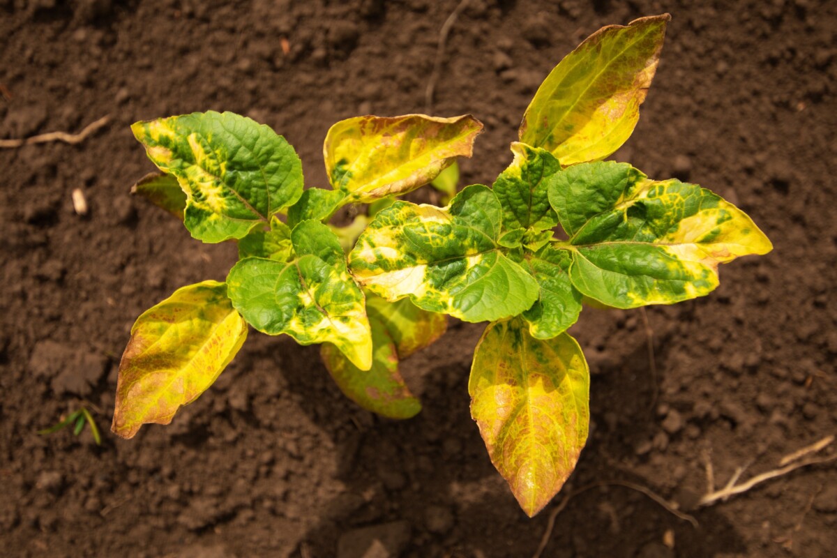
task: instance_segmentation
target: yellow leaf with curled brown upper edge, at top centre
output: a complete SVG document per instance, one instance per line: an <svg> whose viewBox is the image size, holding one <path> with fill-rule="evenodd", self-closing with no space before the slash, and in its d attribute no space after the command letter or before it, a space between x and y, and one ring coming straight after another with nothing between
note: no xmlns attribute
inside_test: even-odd
<svg viewBox="0 0 837 558"><path fill-rule="evenodd" d="M405 194L470 157L482 124L471 115L357 116L331 126L323 152L331 187L372 202Z"/></svg>

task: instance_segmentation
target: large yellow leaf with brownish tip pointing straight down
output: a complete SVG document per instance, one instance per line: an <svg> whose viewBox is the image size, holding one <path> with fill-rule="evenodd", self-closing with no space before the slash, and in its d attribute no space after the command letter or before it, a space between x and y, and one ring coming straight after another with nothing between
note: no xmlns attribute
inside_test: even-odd
<svg viewBox="0 0 837 558"><path fill-rule="evenodd" d="M590 377L576 340L537 340L521 320L489 324L468 392L491 463L532 517L578 463L590 420Z"/></svg>

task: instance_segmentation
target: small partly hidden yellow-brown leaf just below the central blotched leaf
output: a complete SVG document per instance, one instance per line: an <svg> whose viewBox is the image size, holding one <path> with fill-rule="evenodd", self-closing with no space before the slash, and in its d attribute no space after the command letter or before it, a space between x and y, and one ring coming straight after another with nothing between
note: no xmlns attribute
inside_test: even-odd
<svg viewBox="0 0 837 558"><path fill-rule="evenodd" d="M367 313L370 319L374 317L386 326L401 360L431 345L448 328L448 320L443 314L422 310L410 299L388 302L375 294L367 294Z"/></svg>

